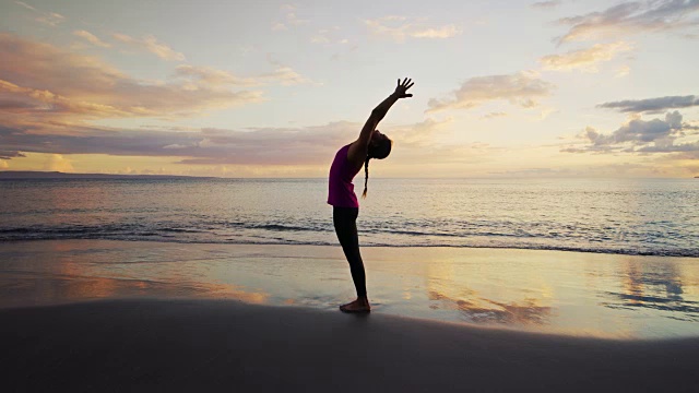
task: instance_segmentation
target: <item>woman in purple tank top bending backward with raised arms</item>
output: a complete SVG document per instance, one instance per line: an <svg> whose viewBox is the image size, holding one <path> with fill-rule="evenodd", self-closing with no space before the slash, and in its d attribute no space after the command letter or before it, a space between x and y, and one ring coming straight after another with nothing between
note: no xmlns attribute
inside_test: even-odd
<svg viewBox="0 0 699 393"><path fill-rule="evenodd" d="M364 273L364 262L359 254L359 239L357 236L357 215L359 214L359 202L354 193L352 180L364 165L364 193L367 194L367 180L369 179L369 159L383 159L391 153L393 142L376 129L377 124L391 106L400 98L412 97L406 94L413 86L410 79L403 82L398 80L395 92L386 98L379 106L374 108L371 116L364 124L359 138L348 145L343 146L335 154L335 159L330 167L330 184L328 192L328 203L333 206L332 221L335 226L337 239L342 250L350 262L352 279L357 290L357 300L340 306L343 312L369 312L371 306L367 298L366 275Z"/></svg>

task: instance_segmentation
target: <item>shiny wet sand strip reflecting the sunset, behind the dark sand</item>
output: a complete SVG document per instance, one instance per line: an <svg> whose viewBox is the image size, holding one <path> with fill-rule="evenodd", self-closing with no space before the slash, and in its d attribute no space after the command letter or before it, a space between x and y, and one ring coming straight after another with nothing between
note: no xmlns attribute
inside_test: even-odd
<svg viewBox="0 0 699 393"><path fill-rule="evenodd" d="M363 249L375 313L571 336L699 335L699 260L566 251ZM0 242L0 309L234 299L336 310L339 247L118 240Z"/></svg>

